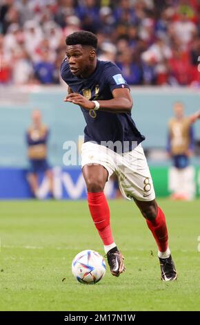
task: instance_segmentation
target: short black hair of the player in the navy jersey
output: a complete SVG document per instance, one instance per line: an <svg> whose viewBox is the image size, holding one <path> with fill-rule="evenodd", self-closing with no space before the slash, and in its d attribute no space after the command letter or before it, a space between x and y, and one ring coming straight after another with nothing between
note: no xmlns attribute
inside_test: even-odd
<svg viewBox="0 0 200 325"><path fill-rule="evenodd" d="M92 46L92 48L97 48L97 36L93 32L88 32L87 30L80 30L79 32L73 32L66 37L66 45L86 45Z"/></svg>

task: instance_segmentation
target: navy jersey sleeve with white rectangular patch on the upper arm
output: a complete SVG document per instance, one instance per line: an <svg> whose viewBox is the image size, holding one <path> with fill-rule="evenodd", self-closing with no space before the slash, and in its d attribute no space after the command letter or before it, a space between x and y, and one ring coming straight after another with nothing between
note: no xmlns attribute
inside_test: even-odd
<svg viewBox="0 0 200 325"><path fill-rule="evenodd" d="M108 64L105 68L106 82L112 92L114 89L128 88L130 86L127 84L126 80L123 78L121 69L115 64Z"/></svg>

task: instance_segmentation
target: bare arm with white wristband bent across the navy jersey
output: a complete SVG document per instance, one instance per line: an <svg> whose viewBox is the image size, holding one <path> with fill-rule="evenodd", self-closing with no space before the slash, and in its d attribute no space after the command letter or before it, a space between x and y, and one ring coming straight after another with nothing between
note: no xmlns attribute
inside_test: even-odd
<svg viewBox="0 0 200 325"><path fill-rule="evenodd" d="M118 88L112 91L112 100L98 100L99 110L112 113L126 113L132 109L132 97L128 88ZM72 102L82 106L84 109L94 109L94 102L87 100L79 93L70 93L64 102Z"/></svg>

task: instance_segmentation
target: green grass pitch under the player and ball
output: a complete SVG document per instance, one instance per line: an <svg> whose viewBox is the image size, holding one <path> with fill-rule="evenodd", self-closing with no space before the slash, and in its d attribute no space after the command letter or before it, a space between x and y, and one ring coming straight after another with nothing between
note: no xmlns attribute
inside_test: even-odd
<svg viewBox="0 0 200 325"><path fill-rule="evenodd" d="M0 203L0 310L200 310L200 201L160 200L166 213L178 280L160 280L154 239L132 202L110 201L114 240L126 272L79 284L73 257L101 254L86 201ZM198 242L199 237L199 242Z"/></svg>

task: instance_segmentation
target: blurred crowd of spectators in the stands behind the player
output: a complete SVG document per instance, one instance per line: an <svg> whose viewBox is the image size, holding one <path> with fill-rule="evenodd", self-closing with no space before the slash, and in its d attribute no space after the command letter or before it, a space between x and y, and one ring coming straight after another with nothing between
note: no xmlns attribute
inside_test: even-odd
<svg viewBox="0 0 200 325"><path fill-rule="evenodd" d="M0 84L61 83L78 30L97 35L99 59L129 84L200 87L199 0L1 0Z"/></svg>

